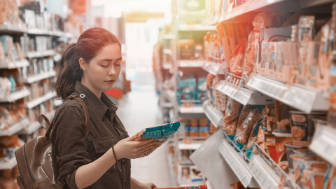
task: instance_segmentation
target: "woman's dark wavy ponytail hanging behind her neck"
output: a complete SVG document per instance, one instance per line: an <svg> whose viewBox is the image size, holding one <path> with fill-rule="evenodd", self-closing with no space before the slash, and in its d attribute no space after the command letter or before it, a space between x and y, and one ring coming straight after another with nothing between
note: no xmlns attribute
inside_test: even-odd
<svg viewBox="0 0 336 189"><path fill-rule="evenodd" d="M75 53L75 47L76 43L70 45L64 51L56 66L57 80L53 90L63 100L74 91L77 80L80 81L83 76L83 70L80 69L79 57Z"/></svg>

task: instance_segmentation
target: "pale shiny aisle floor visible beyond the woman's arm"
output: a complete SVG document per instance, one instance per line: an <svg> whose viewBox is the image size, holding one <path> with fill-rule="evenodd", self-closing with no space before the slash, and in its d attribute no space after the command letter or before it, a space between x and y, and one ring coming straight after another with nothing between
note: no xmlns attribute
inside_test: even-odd
<svg viewBox="0 0 336 189"><path fill-rule="evenodd" d="M145 127L162 123L158 97L153 86L132 90L118 102L117 115L130 136ZM171 186L165 144L148 157L132 160L131 175L142 182L153 182L158 187Z"/></svg>

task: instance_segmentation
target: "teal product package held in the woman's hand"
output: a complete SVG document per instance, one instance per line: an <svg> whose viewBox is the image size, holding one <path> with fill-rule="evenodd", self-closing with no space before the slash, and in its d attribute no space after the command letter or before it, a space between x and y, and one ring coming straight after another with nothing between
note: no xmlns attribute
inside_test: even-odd
<svg viewBox="0 0 336 189"><path fill-rule="evenodd" d="M180 122L176 123L165 123L162 125L156 125L154 127L149 127L141 132L139 132L138 139L168 139L172 136L177 130L179 130Z"/></svg>

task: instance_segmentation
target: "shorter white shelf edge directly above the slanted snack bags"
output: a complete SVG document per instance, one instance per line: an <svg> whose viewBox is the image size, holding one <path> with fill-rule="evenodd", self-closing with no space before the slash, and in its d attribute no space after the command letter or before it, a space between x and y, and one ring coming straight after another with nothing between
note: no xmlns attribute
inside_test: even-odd
<svg viewBox="0 0 336 189"><path fill-rule="evenodd" d="M228 97L235 99L237 102L243 105L262 105L273 102L272 99L266 97L260 92L254 92L253 90L248 90L247 88L237 89L236 87L232 87L225 80L221 80L217 90L223 94L226 94Z"/></svg>

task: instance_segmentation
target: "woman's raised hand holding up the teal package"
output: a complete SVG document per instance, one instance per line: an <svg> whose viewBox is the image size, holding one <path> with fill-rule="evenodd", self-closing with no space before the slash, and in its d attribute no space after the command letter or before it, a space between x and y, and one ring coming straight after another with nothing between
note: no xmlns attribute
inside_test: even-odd
<svg viewBox="0 0 336 189"><path fill-rule="evenodd" d="M139 133L118 141L114 146L114 151L116 152L118 160L121 158L142 158L154 151L161 144L160 141L154 139L137 140L138 135Z"/></svg>

